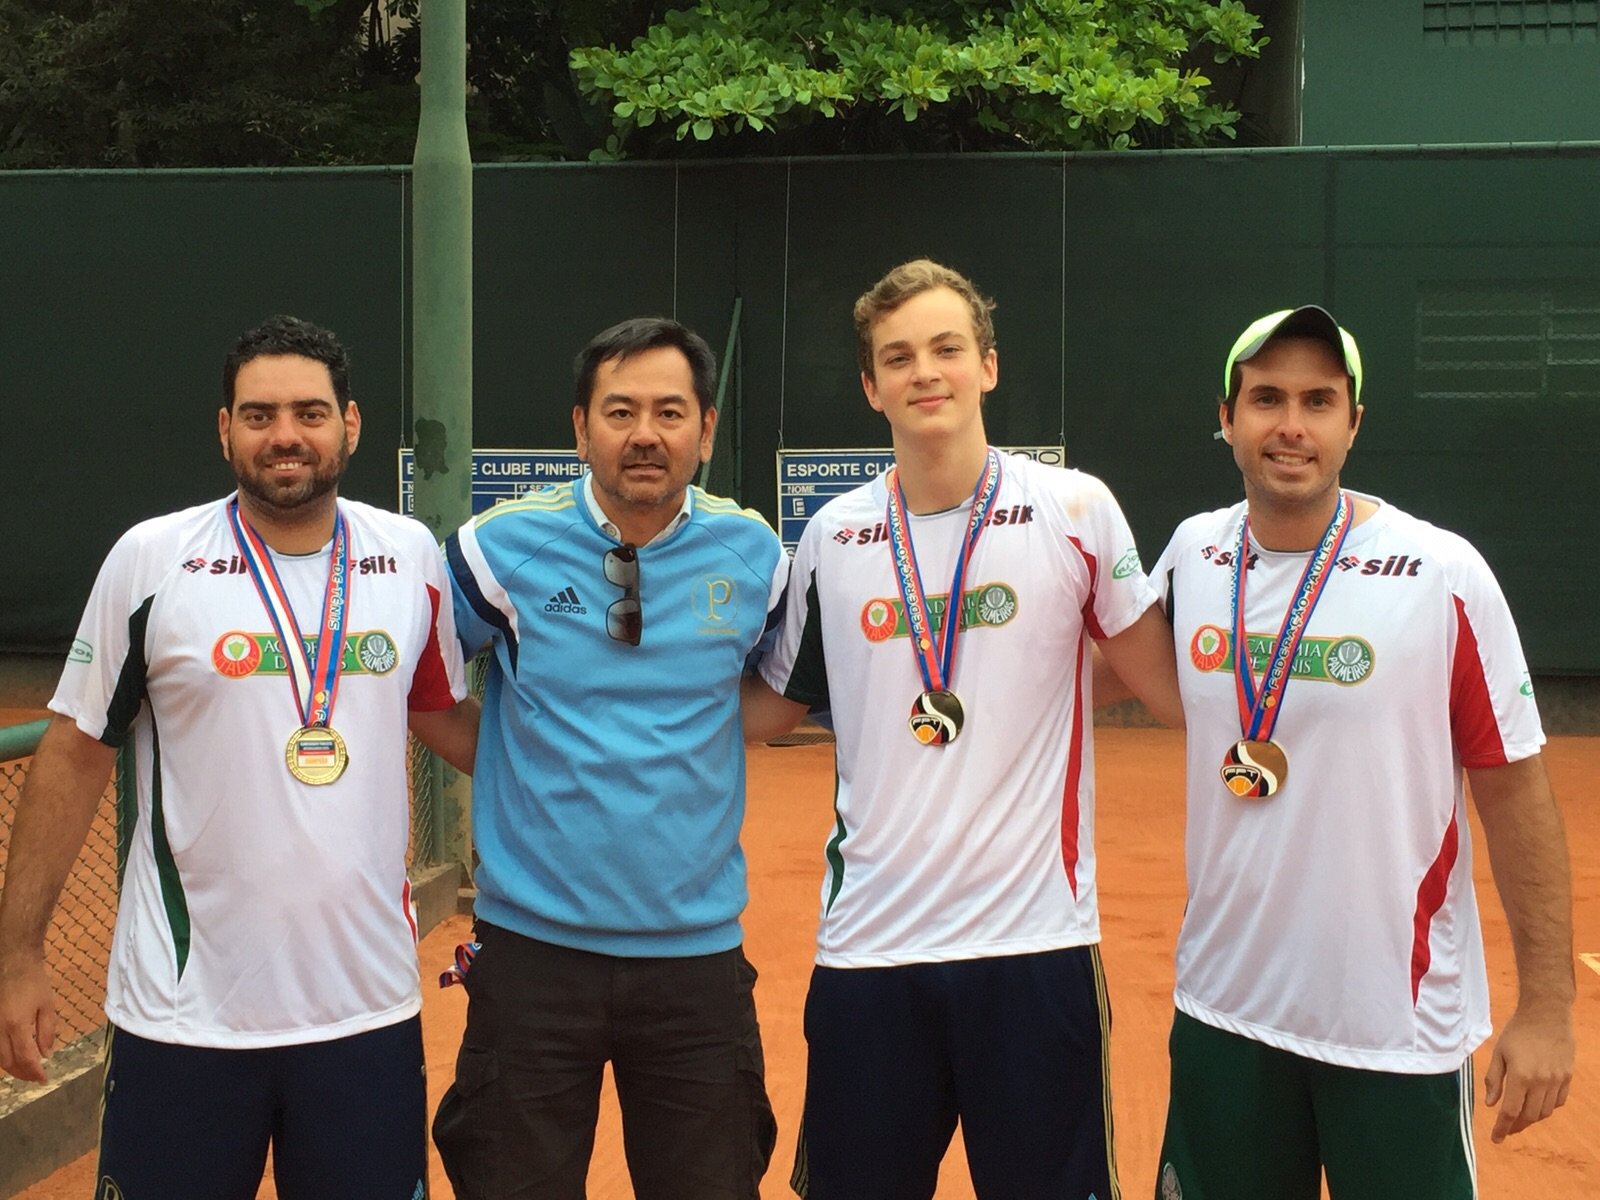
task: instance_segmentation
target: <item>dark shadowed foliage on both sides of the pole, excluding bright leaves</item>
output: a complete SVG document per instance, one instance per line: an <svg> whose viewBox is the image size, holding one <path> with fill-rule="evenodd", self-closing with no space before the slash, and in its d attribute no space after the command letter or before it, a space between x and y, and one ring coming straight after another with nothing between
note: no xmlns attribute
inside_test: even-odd
<svg viewBox="0 0 1600 1200"><path fill-rule="evenodd" d="M582 158L573 46L688 0L467 0L478 158ZM0 168L403 163L419 0L0 0Z"/></svg>

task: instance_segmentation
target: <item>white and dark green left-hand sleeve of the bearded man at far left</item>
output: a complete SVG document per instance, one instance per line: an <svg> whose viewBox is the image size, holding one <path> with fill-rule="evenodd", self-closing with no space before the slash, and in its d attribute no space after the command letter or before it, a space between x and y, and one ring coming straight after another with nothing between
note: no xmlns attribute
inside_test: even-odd
<svg viewBox="0 0 1600 1200"><path fill-rule="evenodd" d="M90 738L122 746L146 696L144 632L155 581L141 563L141 531L125 533L101 565L50 710Z"/></svg>

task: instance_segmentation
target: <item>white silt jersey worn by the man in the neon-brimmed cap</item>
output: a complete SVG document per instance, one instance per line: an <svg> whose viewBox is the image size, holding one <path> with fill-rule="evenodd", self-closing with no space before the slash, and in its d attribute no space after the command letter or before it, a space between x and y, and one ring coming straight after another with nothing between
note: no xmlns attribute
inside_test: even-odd
<svg viewBox="0 0 1600 1200"><path fill-rule="evenodd" d="M1274 733L1288 778L1269 798L1219 774L1240 738L1229 587L1245 506L1184 522L1155 566L1189 726L1176 1003L1323 1062L1443 1074L1490 1034L1461 768L1526 758L1544 734L1488 565L1378 504L1291 666ZM1307 558L1251 547L1258 680Z"/></svg>

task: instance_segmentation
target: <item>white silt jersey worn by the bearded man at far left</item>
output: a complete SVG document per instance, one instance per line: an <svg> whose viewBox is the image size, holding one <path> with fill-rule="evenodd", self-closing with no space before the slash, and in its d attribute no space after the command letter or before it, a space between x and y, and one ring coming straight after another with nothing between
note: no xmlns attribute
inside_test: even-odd
<svg viewBox="0 0 1600 1200"><path fill-rule="evenodd" d="M106 1014L139 1037L325 1042L421 1008L406 710L466 696L461 651L427 528L339 509L349 616L330 723L349 768L331 784L285 765L299 715L227 501L136 525L94 582L50 707L114 746L133 734L138 810ZM307 640L328 562L330 547L274 555Z"/></svg>

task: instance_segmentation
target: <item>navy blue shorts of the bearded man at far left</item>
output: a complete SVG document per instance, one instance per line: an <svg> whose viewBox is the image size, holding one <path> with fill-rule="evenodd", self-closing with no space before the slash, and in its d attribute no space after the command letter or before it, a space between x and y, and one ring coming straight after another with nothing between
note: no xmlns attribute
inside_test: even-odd
<svg viewBox="0 0 1600 1200"><path fill-rule="evenodd" d="M424 1200L422 1021L267 1050L174 1046L114 1029L99 1182L115 1200Z"/></svg>

